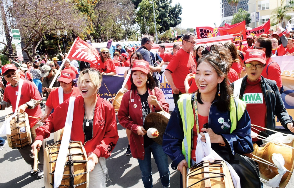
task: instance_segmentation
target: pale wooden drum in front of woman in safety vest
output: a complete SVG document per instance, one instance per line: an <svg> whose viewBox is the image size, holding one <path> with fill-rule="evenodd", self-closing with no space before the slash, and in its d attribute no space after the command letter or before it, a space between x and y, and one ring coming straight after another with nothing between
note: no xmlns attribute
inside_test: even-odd
<svg viewBox="0 0 294 188"><path fill-rule="evenodd" d="M225 162L215 160L202 161L192 166L187 175L187 187L233 188L234 185Z"/></svg>

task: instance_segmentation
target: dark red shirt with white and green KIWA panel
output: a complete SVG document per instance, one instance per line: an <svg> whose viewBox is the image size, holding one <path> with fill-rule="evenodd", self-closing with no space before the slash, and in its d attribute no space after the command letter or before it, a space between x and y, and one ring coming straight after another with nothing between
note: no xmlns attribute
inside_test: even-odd
<svg viewBox="0 0 294 188"><path fill-rule="evenodd" d="M247 78L246 88L242 100L246 103L246 110L250 116L251 123L260 127L265 126L266 118L266 104L264 96L260 87L261 78L255 82L250 82ZM257 111L258 109L258 111ZM262 128L254 127L258 130L264 131ZM259 134L259 131L251 129L253 132ZM252 138L252 141L258 139Z"/></svg>

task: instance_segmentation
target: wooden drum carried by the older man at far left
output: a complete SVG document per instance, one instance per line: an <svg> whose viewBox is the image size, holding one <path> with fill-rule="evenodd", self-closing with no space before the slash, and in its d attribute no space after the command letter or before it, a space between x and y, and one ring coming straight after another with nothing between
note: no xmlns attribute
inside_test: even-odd
<svg viewBox="0 0 294 188"><path fill-rule="evenodd" d="M5 120L13 115L6 115ZM31 129L27 113L17 113L10 121L11 135L7 135L9 147L22 149L32 143Z"/></svg>

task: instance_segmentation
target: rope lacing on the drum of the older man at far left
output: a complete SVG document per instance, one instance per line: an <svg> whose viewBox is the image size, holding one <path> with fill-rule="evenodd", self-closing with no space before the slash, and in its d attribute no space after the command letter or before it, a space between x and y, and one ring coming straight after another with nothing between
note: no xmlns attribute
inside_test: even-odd
<svg viewBox="0 0 294 188"><path fill-rule="evenodd" d="M9 115L13 115L13 113L10 113ZM12 131L14 131L14 130L16 130L16 129L19 129L20 127L17 125L16 127L15 126L12 126L13 124L15 124L15 123L19 123L19 122L26 122L26 120L19 120L19 116L20 116L20 114L19 113L17 113L17 115L14 117L16 120L15 121L13 121L13 120L11 120L10 122L13 122L13 123L11 123L10 124L10 127L14 127L14 129L12 129L11 130L11 136L9 137L11 140L14 140L14 142L10 142L11 143L11 146L12 146L12 148L16 148L16 149L22 149L22 148L24 148L24 147L26 147L28 144L27 143L29 143L29 139L28 139L28 137L25 137L25 138L20 138L20 139L16 139L16 138L14 138L14 136L16 136L16 135L21 135L21 134L26 134L27 133L27 131L24 131L24 132L18 132L18 133L14 133L14 132L12 132ZM16 118L17 117L17 118ZM25 117L24 115L21 115L21 117ZM26 130L26 127L24 127L25 128L25 130ZM12 134L13 134L13 136L12 136ZM19 136L20 137L20 136ZM26 142L22 142L22 140L27 140ZM19 142L19 144L17 144ZM19 146L20 145L20 147L17 147L17 146ZM24 145L24 146L23 146Z"/></svg>

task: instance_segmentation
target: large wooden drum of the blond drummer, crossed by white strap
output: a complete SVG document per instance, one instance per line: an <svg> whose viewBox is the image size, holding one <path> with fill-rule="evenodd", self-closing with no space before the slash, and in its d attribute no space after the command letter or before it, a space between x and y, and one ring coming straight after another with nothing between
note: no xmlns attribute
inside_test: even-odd
<svg viewBox="0 0 294 188"><path fill-rule="evenodd" d="M53 187L54 171L60 145L61 140L47 145L44 151L44 182L46 188ZM69 142L63 174L61 185L59 187L87 188L89 186L87 154L82 142Z"/></svg>

